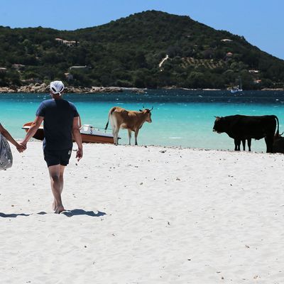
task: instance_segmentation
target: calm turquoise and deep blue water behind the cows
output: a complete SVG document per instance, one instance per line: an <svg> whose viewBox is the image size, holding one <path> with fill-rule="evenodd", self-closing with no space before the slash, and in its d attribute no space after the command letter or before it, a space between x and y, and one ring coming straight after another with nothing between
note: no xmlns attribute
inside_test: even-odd
<svg viewBox="0 0 284 284"><path fill-rule="evenodd" d="M40 102L49 98L49 94L0 94L1 124L15 138L23 138L21 126L33 121ZM145 94L65 94L65 99L75 103L83 124L98 128L106 125L111 107L154 107L153 123L145 123L138 134L140 145L233 149L234 141L225 133L212 132L214 116L232 114L275 114L284 131L284 92L149 90ZM126 130L119 135L121 143L128 143ZM252 150L265 151L264 140L252 141Z"/></svg>

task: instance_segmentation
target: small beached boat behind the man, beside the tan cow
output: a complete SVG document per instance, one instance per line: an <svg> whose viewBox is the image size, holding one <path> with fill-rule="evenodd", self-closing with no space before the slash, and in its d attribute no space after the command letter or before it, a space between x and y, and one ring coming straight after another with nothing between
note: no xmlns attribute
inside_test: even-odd
<svg viewBox="0 0 284 284"><path fill-rule="evenodd" d="M28 132L28 129L31 128L31 124L33 122L27 122L23 124L22 129ZM80 133L82 136L83 143L114 143L114 136L109 133L104 133L99 129L94 128L94 126L89 124L84 124L80 127ZM40 125L38 131L35 132L33 138L43 141L44 132L43 132L43 125ZM73 139L74 141L74 139Z"/></svg>

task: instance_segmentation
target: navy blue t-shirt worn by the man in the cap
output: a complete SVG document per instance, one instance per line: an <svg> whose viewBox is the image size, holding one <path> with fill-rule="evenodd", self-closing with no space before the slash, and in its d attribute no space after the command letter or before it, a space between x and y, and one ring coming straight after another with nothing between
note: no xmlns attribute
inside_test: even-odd
<svg viewBox="0 0 284 284"><path fill-rule="evenodd" d="M73 119L79 116L74 104L65 99L48 99L40 104L36 116L43 116L46 150L72 148Z"/></svg>

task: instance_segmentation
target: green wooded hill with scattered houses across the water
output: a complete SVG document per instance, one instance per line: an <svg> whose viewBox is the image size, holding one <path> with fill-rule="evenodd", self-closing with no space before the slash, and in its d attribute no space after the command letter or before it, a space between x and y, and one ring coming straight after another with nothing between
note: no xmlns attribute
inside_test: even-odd
<svg viewBox="0 0 284 284"><path fill-rule="evenodd" d="M0 87L226 88L239 77L244 89L283 87L284 60L188 16L145 11L76 31L0 26Z"/></svg>

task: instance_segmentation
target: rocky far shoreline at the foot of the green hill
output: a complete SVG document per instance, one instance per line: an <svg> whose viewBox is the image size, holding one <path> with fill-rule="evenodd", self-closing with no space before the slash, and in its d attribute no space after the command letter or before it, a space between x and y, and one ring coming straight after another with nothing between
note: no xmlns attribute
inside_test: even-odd
<svg viewBox="0 0 284 284"><path fill-rule="evenodd" d="M43 83L35 83L35 84L28 84L26 86L13 86L13 87L0 87L0 94L8 93L8 94L15 94L15 93L48 93L49 92L49 85ZM158 88L158 90L184 90L184 91L205 91L205 92L212 92L212 91L229 91L229 89L189 89L189 88L182 88L182 87L163 87ZM66 94L95 94L95 93L117 93L117 92L126 92L130 91L136 94L143 94L147 91L147 88L136 88L136 87L72 87L67 86L65 87ZM250 90L248 90L250 91ZM284 89L270 89L270 88L263 88L257 89L253 91L268 91L268 92L283 92Z"/></svg>

